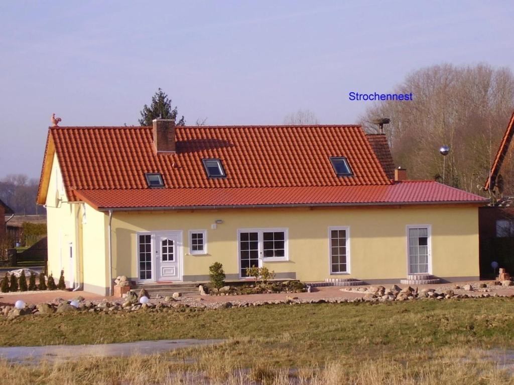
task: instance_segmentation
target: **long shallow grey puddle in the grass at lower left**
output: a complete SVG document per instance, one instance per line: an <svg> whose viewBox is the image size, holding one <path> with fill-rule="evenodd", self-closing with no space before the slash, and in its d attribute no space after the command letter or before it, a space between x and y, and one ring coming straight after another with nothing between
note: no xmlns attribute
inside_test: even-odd
<svg viewBox="0 0 514 385"><path fill-rule="evenodd" d="M197 347L221 343L221 339L177 339L157 341L137 341L125 343L106 343L98 345L46 345L39 347L0 348L0 357L12 362L37 362L41 360L64 361L72 358L124 357L130 355L152 355L166 353L175 349Z"/></svg>

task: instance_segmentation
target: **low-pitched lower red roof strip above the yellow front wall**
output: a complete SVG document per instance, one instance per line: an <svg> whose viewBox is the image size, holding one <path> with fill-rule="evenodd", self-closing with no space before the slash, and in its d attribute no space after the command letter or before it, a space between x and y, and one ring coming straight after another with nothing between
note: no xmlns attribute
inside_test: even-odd
<svg viewBox="0 0 514 385"><path fill-rule="evenodd" d="M99 210L122 208L208 208L274 205L381 205L487 203L487 199L433 181L377 186L305 186L78 190Z"/></svg>

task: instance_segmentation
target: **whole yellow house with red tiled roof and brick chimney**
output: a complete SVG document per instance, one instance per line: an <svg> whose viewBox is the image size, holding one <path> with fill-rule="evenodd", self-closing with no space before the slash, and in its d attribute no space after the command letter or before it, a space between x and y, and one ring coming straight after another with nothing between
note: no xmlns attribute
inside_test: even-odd
<svg viewBox="0 0 514 385"><path fill-rule="evenodd" d="M386 138L355 125L50 127L38 203L48 268L108 294L113 279L398 283L479 276L487 200L406 180Z"/></svg>

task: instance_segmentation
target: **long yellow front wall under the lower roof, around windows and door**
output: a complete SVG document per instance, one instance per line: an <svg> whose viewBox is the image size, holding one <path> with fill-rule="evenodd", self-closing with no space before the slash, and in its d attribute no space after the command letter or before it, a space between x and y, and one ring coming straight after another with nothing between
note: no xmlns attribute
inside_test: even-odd
<svg viewBox="0 0 514 385"><path fill-rule="evenodd" d="M223 223L212 229L218 219ZM136 279L137 232L181 230L183 275L205 279L216 261L228 276L238 274L238 229L280 227L288 229L289 261L264 263L278 276L397 282L407 276L407 225L431 226L433 275L453 281L479 277L478 208L469 206L115 211L113 277ZM350 227L350 274L329 274L329 226ZM207 230L207 255L189 255L191 229Z"/></svg>

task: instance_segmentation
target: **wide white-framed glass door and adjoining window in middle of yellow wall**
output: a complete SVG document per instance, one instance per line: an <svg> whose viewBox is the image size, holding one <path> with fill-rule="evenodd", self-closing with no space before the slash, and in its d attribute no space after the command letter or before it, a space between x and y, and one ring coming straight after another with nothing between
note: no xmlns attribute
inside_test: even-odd
<svg viewBox="0 0 514 385"><path fill-rule="evenodd" d="M262 262L289 260L287 228L245 228L237 230L241 276L246 268Z"/></svg>

